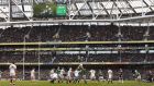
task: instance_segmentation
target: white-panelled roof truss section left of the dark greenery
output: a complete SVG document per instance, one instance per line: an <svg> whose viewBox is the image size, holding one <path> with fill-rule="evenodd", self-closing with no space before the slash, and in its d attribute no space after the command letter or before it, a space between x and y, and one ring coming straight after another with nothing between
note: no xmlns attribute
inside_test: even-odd
<svg viewBox="0 0 154 86"><path fill-rule="evenodd" d="M33 16L33 0L1 0L0 17L2 22L19 20L31 21Z"/></svg>

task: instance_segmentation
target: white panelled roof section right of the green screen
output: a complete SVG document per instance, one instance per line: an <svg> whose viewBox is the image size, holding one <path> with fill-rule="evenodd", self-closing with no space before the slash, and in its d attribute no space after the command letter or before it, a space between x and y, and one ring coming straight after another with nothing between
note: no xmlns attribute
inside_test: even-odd
<svg viewBox="0 0 154 86"><path fill-rule="evenodd" d="M72 19L123 19L151 15L153 12L154 0L72 0L70 4Z"/></svg>

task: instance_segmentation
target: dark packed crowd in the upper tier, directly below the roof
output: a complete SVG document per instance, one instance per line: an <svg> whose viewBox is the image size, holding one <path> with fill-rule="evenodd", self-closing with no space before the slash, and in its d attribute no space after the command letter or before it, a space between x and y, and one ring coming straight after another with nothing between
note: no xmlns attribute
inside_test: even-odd
<svg viewBox="0 0 154 86"><path fill-rule="evenodd" d="M147 30L148 28L148 30ZM116 26L116 25L54 25L8 27L0 29L0 42L24 41L117 41L154 39L153 26Z"/></svg>

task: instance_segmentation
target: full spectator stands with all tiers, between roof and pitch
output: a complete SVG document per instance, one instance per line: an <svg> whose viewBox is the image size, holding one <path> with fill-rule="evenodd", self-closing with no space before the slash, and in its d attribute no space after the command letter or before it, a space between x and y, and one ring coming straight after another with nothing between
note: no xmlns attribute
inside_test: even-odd
<svg viewBox="0 0 154 86"><path fill-rule="evenodd" d="M153 26L52 25L9 27L1 32L0 66L6 71L10 62L15 62L19 79L23 79L23 66L24 79L30 79L32 67L37 71L36 78L48 79L51 69L75 70L80 63L88 71L101 70L105 78L110 67L114 79L120 67L124 79L133 79L136 69L142 78L153 71Z"/></svg>

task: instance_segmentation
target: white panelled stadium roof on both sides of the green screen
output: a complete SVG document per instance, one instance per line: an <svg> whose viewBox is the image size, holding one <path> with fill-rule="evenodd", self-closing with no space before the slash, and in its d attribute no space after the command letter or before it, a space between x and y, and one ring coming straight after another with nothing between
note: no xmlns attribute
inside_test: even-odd
<svg viewBox="0 0 154 86"><path fill-rule="evenodd" d="M53 0L11 0L12 10L9 9L10 0L0 0L1 21L10 16L26 19L33 17L33 3ZM154 0L67 0L67 20L102 20L102 21L140 21L153 22ZM11 13L10 13L11 11Z"/></svg>

